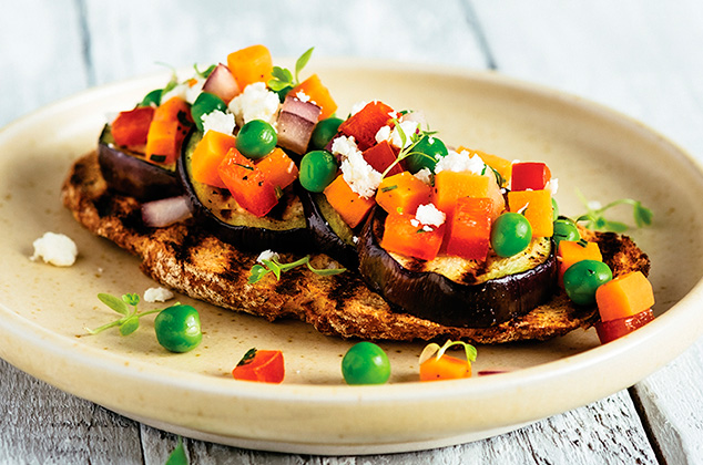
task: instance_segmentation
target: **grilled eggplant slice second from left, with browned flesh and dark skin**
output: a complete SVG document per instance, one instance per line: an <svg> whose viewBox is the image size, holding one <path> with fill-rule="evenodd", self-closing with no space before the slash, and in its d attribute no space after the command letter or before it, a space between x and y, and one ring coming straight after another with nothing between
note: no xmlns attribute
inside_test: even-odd
<svg viewBox="0 0 703 465"><path fill-rule="evenodd" d="M201 138L200 132L187 136L179 163L179 176L190 196L196 220L221 240L242 250L308 251L310 234L306 228L303 203L293 187L284 189L278 205L268 215L258 218L242 208L227 189L193 179L191 155Z"/></svg>

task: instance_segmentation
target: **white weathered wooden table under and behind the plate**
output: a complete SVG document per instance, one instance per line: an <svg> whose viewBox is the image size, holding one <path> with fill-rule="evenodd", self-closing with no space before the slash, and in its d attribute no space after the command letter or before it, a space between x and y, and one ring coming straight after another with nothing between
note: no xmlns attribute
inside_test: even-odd
<svg viewBox="0 0 703 465"><path fill-rule="evenodd" d="M703 3L2 0L0 126L83 89L267 44L495 69L629 114L703 159ZM1 156L1 154L0 154ZM0 259L1 260L1 259ZM1 261L0 261L1 264ZM703 307L703 302L701 302ZM176 437L0 361L0 463L163 463ZM185 441L192 463L703 463L703 340L629 390L502 436L369 457Z"/></svg>

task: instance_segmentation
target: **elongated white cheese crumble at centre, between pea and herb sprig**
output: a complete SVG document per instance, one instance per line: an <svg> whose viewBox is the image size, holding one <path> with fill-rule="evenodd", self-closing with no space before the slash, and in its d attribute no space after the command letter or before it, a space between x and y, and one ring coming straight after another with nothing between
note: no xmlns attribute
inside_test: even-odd
<svg viewBox="0 0 703 465"><path fill-rule="evenodd" d="M364 159L354 137L339 136L335 138L332 143L332 153L342 157L339 166L342 176L352 190L364 198L373 197L383 175Z"/></svg>

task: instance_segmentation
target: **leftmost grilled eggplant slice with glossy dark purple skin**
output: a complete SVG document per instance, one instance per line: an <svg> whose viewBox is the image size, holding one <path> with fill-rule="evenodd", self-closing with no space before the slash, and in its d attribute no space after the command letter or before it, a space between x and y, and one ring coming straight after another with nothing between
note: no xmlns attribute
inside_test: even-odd
<svg viewBox="0 0 703 465"><path fill-rule="evenodd" d="M139 200L156 200L183 193L175 163L157 166L140 153L119 147L105 124L98 143L100 170L108 186Z"/></svg>

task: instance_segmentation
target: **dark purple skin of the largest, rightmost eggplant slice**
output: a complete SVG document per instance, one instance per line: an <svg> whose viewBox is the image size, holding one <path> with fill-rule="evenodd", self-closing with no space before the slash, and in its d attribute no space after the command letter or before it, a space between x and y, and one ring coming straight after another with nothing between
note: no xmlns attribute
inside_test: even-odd
<svg viewBox="0 0 703 465"><path fill-rule="evenodd" d="M380 247L385 213L375 207L359 238L359 271L367 286L394 311L410 313L447 327L489 328L529 313L549 301L556 290L553 246L536 267L463 285L437 272L404 268Z"/></svg>

